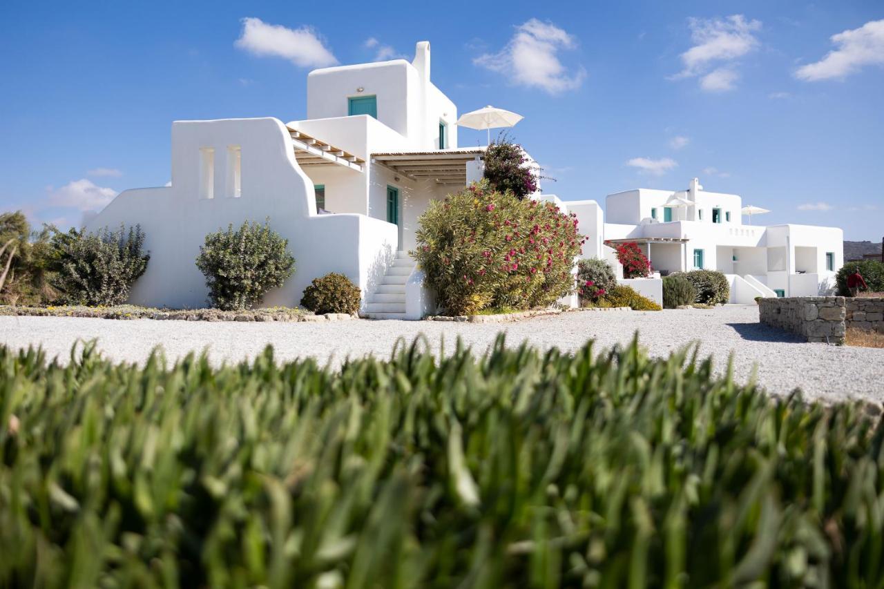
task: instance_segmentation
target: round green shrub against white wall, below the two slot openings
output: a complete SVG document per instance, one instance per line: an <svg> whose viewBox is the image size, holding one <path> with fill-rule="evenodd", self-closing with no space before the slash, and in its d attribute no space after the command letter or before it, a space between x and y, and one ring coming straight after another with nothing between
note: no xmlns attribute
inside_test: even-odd
<svg viewBox="0 0 884 589"><path fill-rule="evenodd" d="M263 226L243 222L233 231L206 235L196 257L196 267L206 277L209 299L221 310L249 309L271 288L278 288L294 272L294 258L288 253L288 240Z"/></svg>

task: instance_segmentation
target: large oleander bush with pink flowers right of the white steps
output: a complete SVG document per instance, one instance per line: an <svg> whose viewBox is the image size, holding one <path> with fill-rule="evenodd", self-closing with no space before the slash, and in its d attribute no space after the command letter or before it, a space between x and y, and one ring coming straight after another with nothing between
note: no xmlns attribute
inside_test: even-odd
<svg viewBox="0 0 884 589"><path fill-rule="evenodd" d="M552 203L492 190L486 180L432 201L410 252L450 315L531 309L573 292L583 236Z"/></svg>

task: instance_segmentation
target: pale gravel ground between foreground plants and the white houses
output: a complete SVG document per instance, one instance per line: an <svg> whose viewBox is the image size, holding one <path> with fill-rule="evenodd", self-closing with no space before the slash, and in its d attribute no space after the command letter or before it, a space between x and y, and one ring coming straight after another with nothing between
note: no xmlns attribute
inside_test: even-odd
<svg viewBox="0 0 884 589"><path fill-rule="evenodd" d="M208 323L118 321L76 317L0 317L0 343L27 348L41 345L61 361L76 340L98 339L113 360L142 362L163 346L169 359L208 349L213 363L254 357L272 344L279 359L315 356L339 363L347 356L390 355L396 340L424 333L438 351L444 340L452 348L461 337L484 351L500 331L507 343L522 340L540 348L575 350L595 338L603 347L628 343L633 333L654 356L691 341L700 342L701 356L713 356L716 370L734 355L735 378L756 380L773 394L796 387L809 398L835 401L848 397L884 402L884 349L827 346L798 340L789 333L760 325L755 305L727 305L711 310L580 312L536 317L508 324L466 324L436 321L339 321L328 323Z"/></svg>

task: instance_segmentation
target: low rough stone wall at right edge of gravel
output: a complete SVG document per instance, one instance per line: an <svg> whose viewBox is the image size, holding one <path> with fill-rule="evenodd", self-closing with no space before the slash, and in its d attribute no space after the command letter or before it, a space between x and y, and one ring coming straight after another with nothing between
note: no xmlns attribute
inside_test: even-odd
<svg viewBox="0 0 884 589"><path fill-rule="evenodd" d="M884 333L884 298L796 296L758 302L761 323L796 333L808 341L844 343L849 327Z"/></svg>

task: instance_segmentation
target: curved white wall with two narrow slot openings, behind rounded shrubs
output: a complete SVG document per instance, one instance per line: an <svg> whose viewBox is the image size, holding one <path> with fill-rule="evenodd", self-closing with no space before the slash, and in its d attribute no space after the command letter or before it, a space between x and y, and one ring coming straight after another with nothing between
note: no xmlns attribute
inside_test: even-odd
<svg viewBox="0 0 884 589"><path fill-rule="evenodd" d="M230 146L241 149L239 198L223 189ZM215 149L215 195L210 199L199 196L204 148ZM286 127L278 119L178 121L172 125L171 187L126 190L87 228L141 225L151 257L130 296L135 304L205 305L205 279L194 264L205 235L266 218L288 239L296 270L265 304L300 303L304 287L327 272L347 275L364 294L395 256L396 227L356 214L316 216L315 209L313 181L296 163Z"/></svg>

